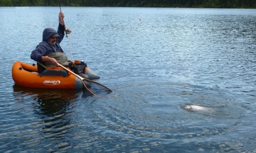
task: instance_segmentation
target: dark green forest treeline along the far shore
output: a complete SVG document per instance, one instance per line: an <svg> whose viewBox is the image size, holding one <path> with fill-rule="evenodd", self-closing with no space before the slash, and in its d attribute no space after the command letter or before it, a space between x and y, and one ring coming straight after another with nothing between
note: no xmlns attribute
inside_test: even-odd
<svg viewBox="0 0 256 153"><path fill-rule="evenodd" d="M256 8L256 0L60 0L61 6ZM59 6L58 0L0 0L0 6Z"/></svg>

